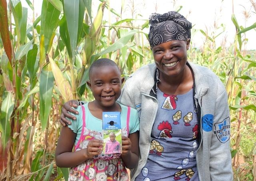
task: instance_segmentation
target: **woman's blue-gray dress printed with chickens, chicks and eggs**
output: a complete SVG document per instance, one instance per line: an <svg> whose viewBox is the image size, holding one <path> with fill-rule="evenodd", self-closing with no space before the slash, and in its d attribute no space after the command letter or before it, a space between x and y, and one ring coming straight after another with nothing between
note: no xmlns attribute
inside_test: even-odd
<svg viewBox="0 0 256 181"><path fill-rule="evenodd" d="M198 121L193 90L182 95L168 95L157 90L157 99L159 107L152 128L148 162L136 181L198 180Z"/></svg>

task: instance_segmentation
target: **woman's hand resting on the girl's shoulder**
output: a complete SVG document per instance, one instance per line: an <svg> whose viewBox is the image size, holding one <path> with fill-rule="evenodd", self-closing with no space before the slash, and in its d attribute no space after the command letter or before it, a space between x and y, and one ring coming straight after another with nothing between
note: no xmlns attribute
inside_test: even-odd
<svg viewBox="0 0 256 181"><path fill-rule="evenodd" d="M64 103L64 105L61 108L61 114L60 114L60 123L63 126L66 126L66 124L71 124L71 122L68 121L68 119L66 119L66 117L76 120L76 117L71 115L69 112L78 114L78 111L76 111L75 109L72 108L72 107L77 108L78 105L79 105L78 100L70 100L70 101L67 101L66 103Z"/></svg>

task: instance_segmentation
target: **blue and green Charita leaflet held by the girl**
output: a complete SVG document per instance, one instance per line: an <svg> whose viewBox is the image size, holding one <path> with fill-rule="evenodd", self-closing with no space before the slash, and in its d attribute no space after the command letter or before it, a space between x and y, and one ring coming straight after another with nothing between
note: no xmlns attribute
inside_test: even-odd
<svg viewBox="0 0 256 181"><path fill-rule="evenodd" d="M103 112L103 151L104 154L122 153L122 129L120 112Z"/></svg>

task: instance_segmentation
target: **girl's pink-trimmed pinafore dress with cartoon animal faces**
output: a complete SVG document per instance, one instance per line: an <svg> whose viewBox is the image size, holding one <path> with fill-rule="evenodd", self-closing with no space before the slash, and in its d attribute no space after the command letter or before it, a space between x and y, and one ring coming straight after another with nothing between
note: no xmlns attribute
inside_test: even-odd
<svg viewBox="0 0 256 181"><path fill-rule="evenodd" d="M75 151L87 147L91 139L103 140L102 132L86 128L85 108L82 105L83 127ZM127 111L126 127L122 128L122 135L129 135L130 107ZM129 181L128 172L120 154L100 154L88 159L80 165L70 169L69 181Z"/></svg>

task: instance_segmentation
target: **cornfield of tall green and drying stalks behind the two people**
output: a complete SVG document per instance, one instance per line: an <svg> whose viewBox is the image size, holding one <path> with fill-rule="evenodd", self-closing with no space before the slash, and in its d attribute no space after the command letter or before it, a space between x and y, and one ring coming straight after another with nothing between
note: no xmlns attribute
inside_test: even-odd
<svg viewBox="0 0 256 181"><path fill-rule="evenodd" d="M63 103L93 99L86 80L98 58L114 60L125 78L154 62L148 15L176 10L193 25L188 60L226 86L234 180L256 181L255 0L216 0L220 9L213 13L204 3L201 16L182 0L115 2L0 0L0 180L67 178L68 169L54 161Z"/></svg>

